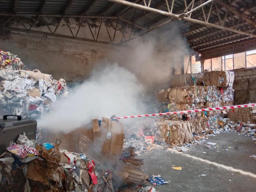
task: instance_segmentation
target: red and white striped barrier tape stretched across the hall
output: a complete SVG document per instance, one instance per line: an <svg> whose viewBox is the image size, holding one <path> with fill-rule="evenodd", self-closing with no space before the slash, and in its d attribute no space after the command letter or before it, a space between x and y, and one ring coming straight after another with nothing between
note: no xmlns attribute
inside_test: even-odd
<svg viewBox="0 0 256 192"><path fill-rule="evenodd" d="M123 116L123 117L116 117L116 118L113 118L113 119L127 119L127 118L135 118L135 117L150 117L150 116L160 116L160 115L172 115L172 114L183 114L183 113L193 113L193 112L216 111L216 110L235 109L235 108L254 107L254 106L256 106L256 103L244 104L244 105L234 105L234 106L225 106L225 107L206 108L206 109L195 109L195 110L187 110L187 111L176 111L176 112L168 112L168 113L155 113L155 114L146 114L146 115Z"/></svg>

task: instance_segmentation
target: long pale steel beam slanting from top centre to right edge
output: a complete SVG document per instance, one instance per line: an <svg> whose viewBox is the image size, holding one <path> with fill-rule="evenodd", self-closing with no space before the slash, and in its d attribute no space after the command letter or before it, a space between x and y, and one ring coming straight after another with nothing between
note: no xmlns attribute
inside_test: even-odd
<svg viewBox="0 0 256 192"><path fill-rule="evenodd" d="M172 17L172 18L177 18L179 20L184 20L184 21L188 21L188 22L192 22L192 23L196 23L196 24L200 24L200 25L204 25L204 26L214 27L214 28L218 28L218 29L222 29L222 30L226 30L226 31L230 31L230 32L250 36L250 37L256 37L256 34L251 34L251 33L243 32L243 31L235 30L235 29L232 29L232 28L212 24L212 23L209 23L209 22L205 22L205 21L201 21L201 20L197 20L197 19L193 19L193 18L183 17L181 14L180 15L172 14L172 13L169 13L169 12L166 12L166 11L157 10L157 9L146 7L146 6L143 6L143 5L131 3L131 2L128 2L126 0L109 0L109 1L119 3L119 4L123 4L123 5L130 6L130 7L134 7L134 8L138 8L138 9L145 10L145 11L158 13L158 14L169 16L169 17Z"/></svg>

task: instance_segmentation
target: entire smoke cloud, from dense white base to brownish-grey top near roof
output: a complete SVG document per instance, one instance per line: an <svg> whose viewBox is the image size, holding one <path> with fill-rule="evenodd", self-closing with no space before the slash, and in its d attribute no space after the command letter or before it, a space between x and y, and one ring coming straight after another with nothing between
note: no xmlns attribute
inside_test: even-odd
<svg viewBox="0 0 256 192"><path fill-rule="evenodd" d="M156 85L168 82L187 53L186 40L176 23L154 36L137 38L129 46L110 52L88 80L70 90L68 98L38 121L38 127L70 132L102 116L153 112Z"/></svg>

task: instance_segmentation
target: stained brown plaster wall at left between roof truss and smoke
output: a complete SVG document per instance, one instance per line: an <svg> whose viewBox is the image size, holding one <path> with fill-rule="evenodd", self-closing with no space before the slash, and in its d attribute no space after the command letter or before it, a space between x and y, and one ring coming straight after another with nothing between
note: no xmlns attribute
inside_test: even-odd
<svg viewBox="0 0 256 192"><path fill-rule="evenodd" d="M50 36L13 34L8 39L0 39L0 49L16 54L32 70L52 74L55 79L80 81L88 78L93 65L114 47Z"/></svg>

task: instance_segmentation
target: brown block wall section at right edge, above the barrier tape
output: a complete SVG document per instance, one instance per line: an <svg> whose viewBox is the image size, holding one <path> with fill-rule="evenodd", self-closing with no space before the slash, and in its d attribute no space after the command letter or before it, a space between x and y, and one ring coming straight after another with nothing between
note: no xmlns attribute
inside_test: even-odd
<svg viewBox="0 0 256 192"><path fill-rule="evenodd" d="M256 103L256 68L234 70L234 103Z"/></svg>

